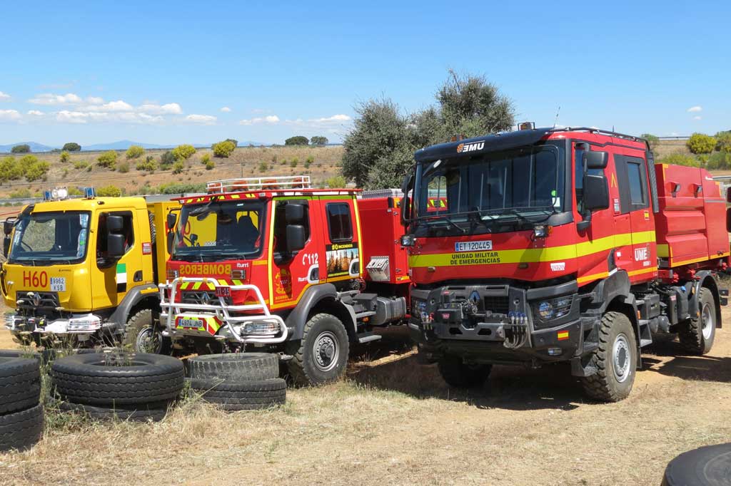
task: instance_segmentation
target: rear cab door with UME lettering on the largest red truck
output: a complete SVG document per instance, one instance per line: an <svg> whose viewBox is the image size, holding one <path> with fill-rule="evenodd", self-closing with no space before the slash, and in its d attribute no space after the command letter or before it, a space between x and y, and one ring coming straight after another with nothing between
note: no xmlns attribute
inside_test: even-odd
<svg viewBox="0 0 731 486"><path fill-rule="evenodd" d="M622 268L629 278L644 279L657 270L655 220L651 215L648 168L644 157L614 156L619 185L622 215L629 219L630 244L628 255L622 255Z"/></svg>

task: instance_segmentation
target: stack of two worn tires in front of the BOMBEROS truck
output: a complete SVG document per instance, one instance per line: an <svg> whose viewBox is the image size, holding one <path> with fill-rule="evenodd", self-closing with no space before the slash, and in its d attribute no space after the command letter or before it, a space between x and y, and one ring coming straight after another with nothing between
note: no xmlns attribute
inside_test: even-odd
<svg viewBox="0 0 731 486"><path fill-rule="evenodd" d="M203 355L188 360L192 390L227 411L284 404L287 382L279 378L279 357L264 352Z"/></svg>

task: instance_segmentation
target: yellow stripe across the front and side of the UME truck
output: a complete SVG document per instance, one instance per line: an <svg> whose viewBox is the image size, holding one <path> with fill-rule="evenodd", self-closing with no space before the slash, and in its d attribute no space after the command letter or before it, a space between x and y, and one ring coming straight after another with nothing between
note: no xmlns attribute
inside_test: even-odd
<svg viewBox="0 0 731 486"><path fill-rule="evenodd" d="M520 250L488 250L479 253L499 258L495 263L534 263L540 261L570 260L578 256L591 255L592 253L604 252L616 247L629 246L631 244L650 243L655 241L654 231L637 231L636 233L617 234L605 236L590 242L578 244L566 244L560 247L548 248L523 248ZM454 252L435 253L433 255L412 255L409 257L409 265L412 268L426 266L454 266ZM489 258L488 258L489 259ZM469 259L467 259L469 260ZM470 264L470 263L467 263Z"/></svg>

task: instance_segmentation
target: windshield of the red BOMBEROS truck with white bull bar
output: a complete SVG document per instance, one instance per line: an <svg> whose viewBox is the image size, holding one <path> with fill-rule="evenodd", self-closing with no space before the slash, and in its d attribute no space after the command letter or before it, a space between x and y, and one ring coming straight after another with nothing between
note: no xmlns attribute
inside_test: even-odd
<svg viewBox="0 0 731 486"><path fill-rule="evenodd" d="M211 201L181 209L173 260L251 259L262 248L264 203Z"/></svg>

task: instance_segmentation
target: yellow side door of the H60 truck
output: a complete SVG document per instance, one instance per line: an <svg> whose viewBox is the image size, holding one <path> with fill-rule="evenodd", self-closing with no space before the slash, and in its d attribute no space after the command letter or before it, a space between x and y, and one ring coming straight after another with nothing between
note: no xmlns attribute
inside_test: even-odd
<svg viewBox="0 0 731 486"><path fill-rule="evenodd" d="M91 261L91 299L94 309L118 306L127 291L143 281L142 242L138 241L140 220L129 210L113 210L96 213L96 261ZM107 254L107 217L121 216L125 252L118 260ZM150 224L149 220L143 223ZM92 255L90 255L91 257Z"/></svg>

